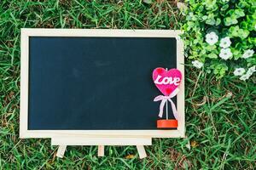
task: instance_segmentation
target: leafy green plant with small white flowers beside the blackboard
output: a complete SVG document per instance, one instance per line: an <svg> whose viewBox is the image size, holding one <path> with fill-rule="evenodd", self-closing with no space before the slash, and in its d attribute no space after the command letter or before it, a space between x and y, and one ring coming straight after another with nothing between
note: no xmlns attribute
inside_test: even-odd
<svg viewBox="0 0 256 170"><path fill-rule="evenodd" d="M185 0L185 54L192 65L217 78L227 71L240 80L255 72L256 7L253 1Z"/></svg>

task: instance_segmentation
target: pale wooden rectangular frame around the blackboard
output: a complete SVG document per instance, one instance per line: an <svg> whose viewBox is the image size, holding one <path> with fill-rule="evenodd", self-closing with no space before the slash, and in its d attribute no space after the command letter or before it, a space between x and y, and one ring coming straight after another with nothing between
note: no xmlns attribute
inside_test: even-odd
<svg viewBox="0 0 256 170"><path fill-rule="evenodd" d="M126 138L184 138L184 54L181 31L172 30L93 30L93 29L40 29L23 28L20 37L20 138L56 137L126 137ZM29 37L176 37L177 69L182 71L183 79L177 94L177 130L28 130L28 68ZM153 99L152 99L153 102ZM155 120L156 121L156 120Z"/></svg>

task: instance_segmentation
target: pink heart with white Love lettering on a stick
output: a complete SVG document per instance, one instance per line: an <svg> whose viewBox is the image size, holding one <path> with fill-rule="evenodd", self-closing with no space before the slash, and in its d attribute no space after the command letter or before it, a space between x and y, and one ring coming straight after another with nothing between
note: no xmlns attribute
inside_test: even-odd
<svg viewBox="0 0 256 170"><path fill-rule="evenodd" d="M153 71L153 80L155 86L166 96L178 87L182 79L182 73L177 69L166 71L164 68L156 68Z"/></svg>

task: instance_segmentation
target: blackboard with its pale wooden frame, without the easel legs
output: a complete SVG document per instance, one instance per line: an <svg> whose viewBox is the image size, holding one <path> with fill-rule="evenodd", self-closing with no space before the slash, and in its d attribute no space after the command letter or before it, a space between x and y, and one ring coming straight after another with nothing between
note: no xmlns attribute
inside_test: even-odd
<svg viewBox="0 0 256 170"><path fill-rule="evenodd" d="M183 72L180 31L21 30L20 137L184 135L183 80L177 130L160 130L156 67ZM170 105L170 104L169 104ZM174 119L171 105L169 118ZM164 114L165 116L165 114ZM165 118L165 117L163 117Z"/></svg>

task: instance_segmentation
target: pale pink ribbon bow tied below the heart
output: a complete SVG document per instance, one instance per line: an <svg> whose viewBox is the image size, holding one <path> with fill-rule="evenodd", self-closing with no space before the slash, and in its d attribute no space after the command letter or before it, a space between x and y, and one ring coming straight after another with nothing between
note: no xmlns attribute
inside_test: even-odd
<svg viewBox="0 0 256 170"><path fill-rule="evenodd" d="M160 101L160 100L161 100L161 103L160 103L160 111L159 111L159 115L158 115L158 116L160 116L160 117L163 116L164 106L165 106L165 105L168 105L166 101L170 101L170 102L171 102L171 105L172 105L172 113L173 113L173 116L177 119L177 109L176 109L175 104L174 104L173 101L172 101L172 98L177 95L178 91L179 91L179 89L176 88L176 89L172 92L172 94L170 94L169 96L159 95L159 96L156 96L156 97L154 98L154 101Z"/></svg>

